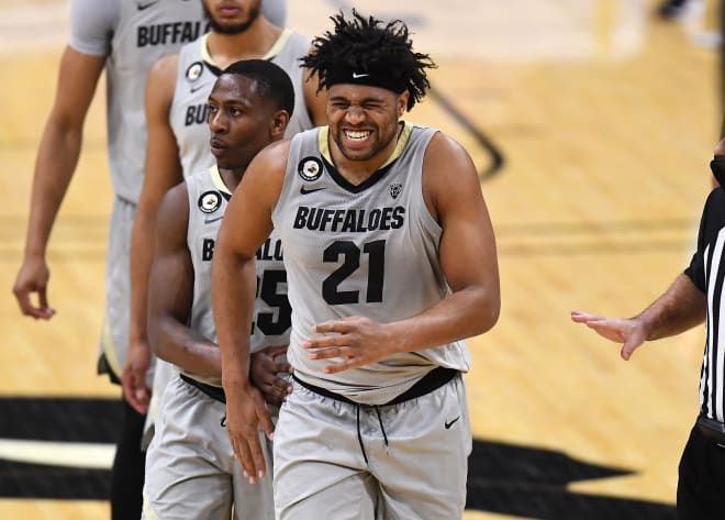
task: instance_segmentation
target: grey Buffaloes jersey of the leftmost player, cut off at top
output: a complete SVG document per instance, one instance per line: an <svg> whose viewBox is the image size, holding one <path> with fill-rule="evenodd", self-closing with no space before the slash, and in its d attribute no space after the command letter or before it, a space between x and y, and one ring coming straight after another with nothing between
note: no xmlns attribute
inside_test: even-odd
<svg viewBox="0 0 725 520"><path fill-rule="evenodd" d="M198 1L123 0L105 63L111 184L119 197L137 202L144 176L144 90L150 66L202 35Z"/></svg>

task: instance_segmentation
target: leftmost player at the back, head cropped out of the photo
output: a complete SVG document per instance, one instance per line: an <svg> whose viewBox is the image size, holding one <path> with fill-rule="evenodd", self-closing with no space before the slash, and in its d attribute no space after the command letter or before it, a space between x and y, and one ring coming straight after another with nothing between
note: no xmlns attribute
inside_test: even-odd
<svg viewBox="0 0 725 520"><path fill-rule="evenodd" d="M265 12L286 16L285 0L265 0ZM23 263L13 292L35 319L55 314L47 298L46 248L81 152L88 107L107 74L109 169L114 192L105 265L105 317L99 373L120 383L129 346L129 251L143 179L146 126L143 92L148 68L207 31L201 5L186 0L71 0L70 41L60 59L56 98L37 152ZM141 412L145 413L142 407ZM111 476L111 516L141 515L144 417L124 400Z"/></svg>

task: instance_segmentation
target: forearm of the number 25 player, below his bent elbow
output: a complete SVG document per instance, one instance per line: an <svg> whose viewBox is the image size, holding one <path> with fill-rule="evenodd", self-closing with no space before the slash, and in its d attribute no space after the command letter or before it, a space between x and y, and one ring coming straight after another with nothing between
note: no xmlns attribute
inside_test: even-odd
<svg viewBox="0 0 725 520"><path fill-rule="evenodd" d="M183 370L203 377L222 375L219 347L174 317L158 320L158 324L149 330L149 343L154 354Z"/></svg>

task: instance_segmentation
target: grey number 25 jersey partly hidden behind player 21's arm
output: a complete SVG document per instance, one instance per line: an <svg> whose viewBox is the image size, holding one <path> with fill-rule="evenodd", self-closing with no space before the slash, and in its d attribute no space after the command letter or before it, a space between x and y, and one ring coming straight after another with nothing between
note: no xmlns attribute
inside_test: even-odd
<svg viewBox="0 0 725 520"><path fill-rule="evenodd" d="M216 166L187 178L189 192L189 228L187 245L193 265L193 303L189 327L216 343L216 329L211 305L211 262L216 235L232 196ZM257 300L252 323L250 352L270 345L289 343L291 312L287 299L287 273L282 245L275 231L257 252ZM239 324L249 330L249 324ZM208 385L222 386L219 378L187 374Z"/></svg>

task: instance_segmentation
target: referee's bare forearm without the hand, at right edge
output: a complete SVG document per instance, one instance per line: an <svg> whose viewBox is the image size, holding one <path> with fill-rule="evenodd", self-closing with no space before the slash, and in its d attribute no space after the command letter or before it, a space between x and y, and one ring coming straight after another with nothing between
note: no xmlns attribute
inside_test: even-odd
<svg viewBox="0 0 725 520"><path fill-rule="evenodd" d="M702 323L706 305L705 295L688 276L680 275L662 296L633 319L643 324L648 341L659 340Z"/></svg>

